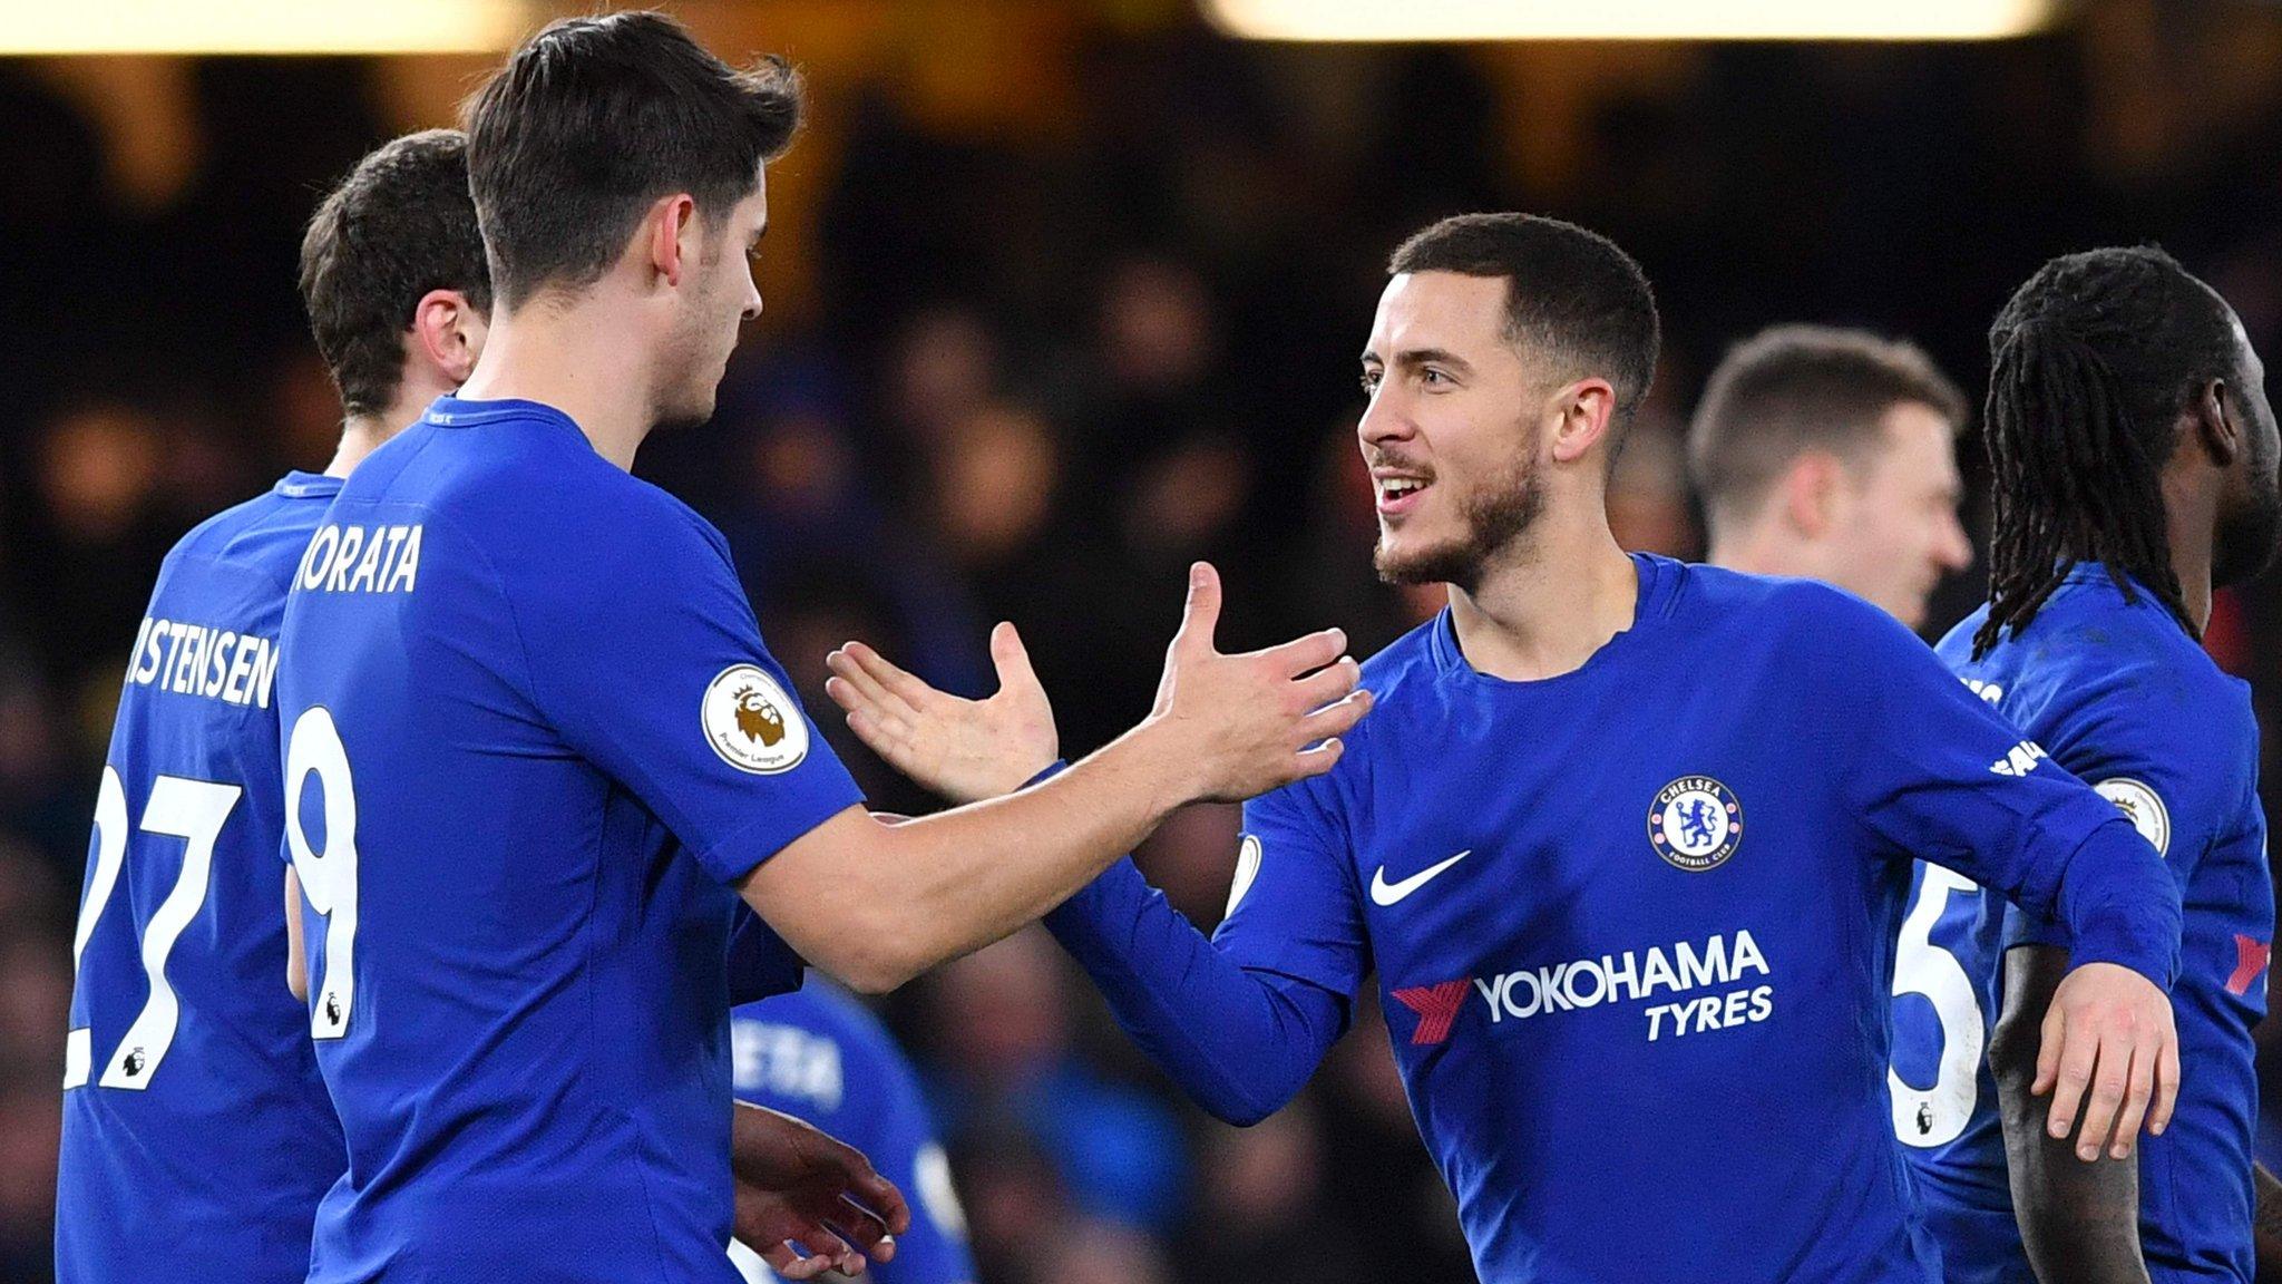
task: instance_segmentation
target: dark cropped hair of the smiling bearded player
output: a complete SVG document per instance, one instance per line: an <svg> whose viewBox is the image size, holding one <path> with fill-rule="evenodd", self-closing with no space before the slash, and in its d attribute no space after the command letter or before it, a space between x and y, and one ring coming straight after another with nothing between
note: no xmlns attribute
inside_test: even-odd
<svg viewBox="0 0 2282 1284"><path fill-rule="evenodd" d="M1406 240L1390 274L1458 272L1506 279L1508 343L1616 391L1623 427L1657 375L1657 297L1613 240L1543 215L1454 215Z"/></svg>

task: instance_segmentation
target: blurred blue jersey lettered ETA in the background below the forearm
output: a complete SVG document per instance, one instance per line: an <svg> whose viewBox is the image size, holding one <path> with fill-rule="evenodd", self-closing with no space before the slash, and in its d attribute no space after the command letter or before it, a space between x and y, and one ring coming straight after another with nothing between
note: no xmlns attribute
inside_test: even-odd
<svg viewBox="0 0 2282 1284"><path fill-rule="evenodd" d="M808 1120L872 1158L911 1199L911 1231L895 1236L895 1261L867 1273L879 1284L965 1284L974 1279L968 1220L952 1188L952 1161L920 1094L920 1078L895 1037L853 994L822 976L803 989L746 1003L730 1017L737 1097ZM739 1245L753 1282L776 1275Z"/></svg>

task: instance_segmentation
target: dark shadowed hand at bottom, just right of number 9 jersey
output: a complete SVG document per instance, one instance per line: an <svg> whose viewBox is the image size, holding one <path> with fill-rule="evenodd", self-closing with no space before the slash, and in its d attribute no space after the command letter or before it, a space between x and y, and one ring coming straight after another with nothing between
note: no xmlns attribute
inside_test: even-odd
<svg viewBox="0 0 2282 1284"><path fill-rule="evenodd" d="M792 1115L739 1101L730 1172L737 1238L785 1279L860 1275L865 1254L892 1261L895 1236L911 1229L911 1206L895 1181L856 1147Z"/></svg>

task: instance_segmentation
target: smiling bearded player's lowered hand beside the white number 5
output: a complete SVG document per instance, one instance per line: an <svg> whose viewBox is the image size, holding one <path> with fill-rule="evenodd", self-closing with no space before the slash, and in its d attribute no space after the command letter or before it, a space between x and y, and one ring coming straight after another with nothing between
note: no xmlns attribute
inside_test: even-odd
<svg viewBox="0 0 2282 1284"><path fill-rule="evenodd" d="M2145 976L2118 964L2083 964L2052 992L2045 1010L2036 1083L2052 1092L2047 1126L2077 1135L2077 1158L2131 1158L2141 1122L2161 1135L2179 1101L2179 1030L2170 998ZM2083 1129L2077 1129L2077 1108Z"/></svg>

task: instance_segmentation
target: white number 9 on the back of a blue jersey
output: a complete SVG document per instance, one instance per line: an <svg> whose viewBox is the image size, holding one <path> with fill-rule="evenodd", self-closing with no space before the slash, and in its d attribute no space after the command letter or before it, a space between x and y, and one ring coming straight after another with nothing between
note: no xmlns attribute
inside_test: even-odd
<svg viewBox="0 0 2282 1284"><path fill-rule="evenodd" d="M324 850L310 850L301 827L301 781L317 772L324 791ZM324 978L310 989L308 1033L338 1040L349 1033L356 1003L356 781L349 749L329 708L310 706L285 740L285 845L301 875L301 896L324 916Z"/></svg>

